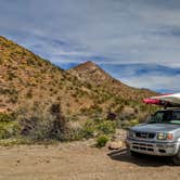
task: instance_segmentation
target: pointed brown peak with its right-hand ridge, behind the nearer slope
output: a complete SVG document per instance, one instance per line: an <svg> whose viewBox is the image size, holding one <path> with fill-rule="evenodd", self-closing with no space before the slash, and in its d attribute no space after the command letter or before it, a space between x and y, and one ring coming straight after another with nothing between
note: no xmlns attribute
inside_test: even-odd
<svg viewBox="0 0 180 180"><path fill-rule="evenodd" d="M140 101L145 97L156 94L147 89L132 88L120 82L91 61L80 64L68 72L81 81L88 81L92 86L101 87L105 91L124 99Z"/></svg>

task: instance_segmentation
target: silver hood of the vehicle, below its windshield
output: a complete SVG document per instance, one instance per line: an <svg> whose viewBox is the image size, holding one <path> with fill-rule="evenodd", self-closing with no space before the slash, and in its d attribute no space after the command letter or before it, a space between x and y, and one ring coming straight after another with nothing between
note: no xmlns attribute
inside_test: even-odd
<svg viewBox="0 0 180 180"><path fill-rule="evenodd" d="M140 132L169 132L180 128L180 125L170 124L140 124L130 130Z"/></svg>

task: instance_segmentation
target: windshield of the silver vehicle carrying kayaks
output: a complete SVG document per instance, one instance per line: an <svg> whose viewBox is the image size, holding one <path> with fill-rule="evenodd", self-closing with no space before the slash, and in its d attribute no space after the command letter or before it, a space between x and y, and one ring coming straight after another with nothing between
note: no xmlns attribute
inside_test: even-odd
<svg viewBox="0 0 180 180"><path fill-rule="evenodd" d="M180 111L159 111L150 118L149 123L180 125Z"/></svg>

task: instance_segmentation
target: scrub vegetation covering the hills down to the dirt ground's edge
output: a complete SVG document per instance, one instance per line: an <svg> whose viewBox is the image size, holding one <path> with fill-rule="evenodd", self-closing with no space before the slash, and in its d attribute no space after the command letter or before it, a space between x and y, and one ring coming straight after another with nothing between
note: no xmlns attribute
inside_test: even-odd
<svg viewBox="0 0 180 180"><path fill-rule="evenodd" d="M108 136L156 110L141 103L154 92L128 87L91 62L65 72L3 37L0 66L0 103L11 110L0 114L1 139L20 131L35 141Z"/></svg>

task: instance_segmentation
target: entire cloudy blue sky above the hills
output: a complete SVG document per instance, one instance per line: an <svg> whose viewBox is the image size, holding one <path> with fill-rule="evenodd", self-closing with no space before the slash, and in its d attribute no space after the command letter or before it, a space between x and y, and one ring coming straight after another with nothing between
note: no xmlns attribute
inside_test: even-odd
<svg viewBox="0 0 180 180"><path fill-rule="evenodd" d="M180 91L179 0L0 0L0 35L63 68L94 61L115 78Z"/></svg>

